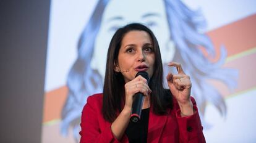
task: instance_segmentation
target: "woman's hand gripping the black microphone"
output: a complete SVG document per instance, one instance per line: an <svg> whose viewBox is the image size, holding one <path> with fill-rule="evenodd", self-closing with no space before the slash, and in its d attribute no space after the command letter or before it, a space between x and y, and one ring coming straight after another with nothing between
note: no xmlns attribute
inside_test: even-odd
<svg viewBox="0 0 256 143"><path fill-rule="evenodd" d="M142 92L144 96L149 96L151 93L147 80L140 75L134 78L134 80L126 83L124 88L126 93L126 103L124 108L132 108L133 96L137 92Z"/></svg>

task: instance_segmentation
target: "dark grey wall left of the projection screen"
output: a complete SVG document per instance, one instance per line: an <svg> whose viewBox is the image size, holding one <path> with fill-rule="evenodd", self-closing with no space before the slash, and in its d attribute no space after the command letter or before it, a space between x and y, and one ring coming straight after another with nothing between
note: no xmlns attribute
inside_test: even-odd
<svg viewBox="0 0 256 143"><path fill-rule="evenodd" d="M0 142L40 142L49 0L0 0Z"/></svg>

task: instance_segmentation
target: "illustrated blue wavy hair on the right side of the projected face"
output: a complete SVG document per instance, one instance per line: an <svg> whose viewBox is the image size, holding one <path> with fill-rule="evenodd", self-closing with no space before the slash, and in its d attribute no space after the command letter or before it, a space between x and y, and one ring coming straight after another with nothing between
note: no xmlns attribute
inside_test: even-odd
<svg viewBox="0 0 256 143"><path fill-rule="evenodd" d="M174 61L181 63L185 73L190 76L191 94L197 101L201 117L203 117L207 102L213 104L221 115L225 116L224 99L215 87L207 83L207 80L220 80L229 89L234 89L237 86L237 70L221 68L226 59L226 49L221 46L220 59L217 62L210 62L200 49L203 47L209 57L215 57L215 49L210 38L202 33L207 23L200 10L190 10L179 0L164 2L171 36L176 47ZM164 71L168 72L168 67L164 67ZM207 123L203 118L201 120L203 126L207 128Z"/></svg>

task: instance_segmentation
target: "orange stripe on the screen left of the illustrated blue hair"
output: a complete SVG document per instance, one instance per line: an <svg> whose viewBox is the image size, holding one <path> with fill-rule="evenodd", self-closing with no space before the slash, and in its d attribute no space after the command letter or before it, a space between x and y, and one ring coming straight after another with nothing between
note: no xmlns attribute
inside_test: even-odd
<svg viewBox="0 0 256 143"><path fill-rule="evenodd" d="M61 110L67 98L67 91L67 87L62 86L45 94L43 123L61 118Z"/></svg>

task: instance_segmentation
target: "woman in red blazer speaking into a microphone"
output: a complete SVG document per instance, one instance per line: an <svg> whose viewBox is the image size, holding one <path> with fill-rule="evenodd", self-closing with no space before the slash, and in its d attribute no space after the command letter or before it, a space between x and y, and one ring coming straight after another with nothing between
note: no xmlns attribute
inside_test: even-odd
<svg viewBox="0 0 256 143"><path fill-rule="evenodd" d="M160 48L153 32L132 23L116 31L108 48L103 94L88 97L80 142L205 142L191 82L179 63L163 88ZM150 81L135 75L147 71ZM129 123L133 97L145 96L139 124Z"/></svg>

